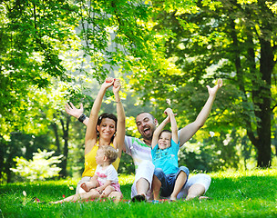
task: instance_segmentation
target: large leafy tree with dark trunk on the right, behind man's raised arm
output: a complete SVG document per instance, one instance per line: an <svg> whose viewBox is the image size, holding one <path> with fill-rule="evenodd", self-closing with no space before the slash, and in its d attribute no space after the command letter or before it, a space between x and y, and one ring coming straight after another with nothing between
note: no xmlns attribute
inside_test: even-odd
<svg viewBox="0 0 277 218"><path fill-rule="evenodd" d="M154 84L150 84L152 92L144 92L144 98L155 99L153 104L163 108L169 98L178 114L183 114L185 108L197 112L203 93L199 84L222 77L225 89L218 99L223 97L224 103L217 105L221 111L211 114L212 119L217 117L219 128L224 126L225 130L228 124L227 132L236 126L245 128L257 151L257 165L268 167L272 155L271 117L276 104L272 104L276 4L262 0L195 2L197 5L190 6L179 1L153 2L159 10L157 31L170 29L173 33L165 44L167 56L182 71L150 73ZM145 81L132 83L139 89L139 83ZM148 90L150 85L144 88ZM185 114L190 117L194 113Z"/></svg>

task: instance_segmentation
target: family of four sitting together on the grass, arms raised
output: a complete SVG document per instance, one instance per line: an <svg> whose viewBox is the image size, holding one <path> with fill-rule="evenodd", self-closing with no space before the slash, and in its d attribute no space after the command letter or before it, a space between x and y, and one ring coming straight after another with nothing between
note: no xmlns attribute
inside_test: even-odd
<svg viewBox="0 0 277 218"><path fill-rule="evenodd" d="M113 114L102 114L97 117L104 94L111 86L117 103L118 119ZM167 118L158 128L156 127L158 121L152 114L145 112L138 114L136 124L142 136L141 140L125 135L125 113L119 97L121 84L118 79L108 78L101 85L89 118L83 114L82 104L80 109L71 103L67 104L67 114L75 116L87 125L85 170L81 181L77 184L76 194L55 203L86 201L102 197L111 198L115 202L120 201L123 195L119 189L115 170L118 169L122 151L131 155L135 163L135 182L131 188L132 202L152 200L153 194L154 199L159 200L159 193L162 197L170 197L172 201L180 198L185 200L195 197L205 198L202 195L210 187L210 176L199 173L189 178L188 168L178 166L177 153L180 146L190 140L207 120L221 86L221 79L213 88L207 85L209 98L206 104L196 120L180 131L177 131L175 115L169 108L165 110ZM172 133L162 131L169 122ZM116 161L106 153L107 146L112 146L117 151ZM98 171L99 169L101 171ZM109 173L105 173L107 171Z"/></svg>

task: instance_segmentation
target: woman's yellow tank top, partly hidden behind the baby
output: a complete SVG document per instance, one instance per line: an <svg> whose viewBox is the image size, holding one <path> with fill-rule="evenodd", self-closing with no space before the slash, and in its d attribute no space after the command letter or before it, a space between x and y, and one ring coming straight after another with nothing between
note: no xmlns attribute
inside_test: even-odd
<svg viewBox="0 0 277 218"><path fill-rule="evenodd" d="M112 143L110 145L112 147L114 147L114 145ZM99 148L99 144L93 146L91 151L85 155L85 170L82 174L82 177L94 175L94 173L97 169L97 162L96 162L95 157L97 155L98 148ZM114 163L112 163L117 171L118 171L119 162L120 162L120 158L118 157L117 160Z"/></svg>

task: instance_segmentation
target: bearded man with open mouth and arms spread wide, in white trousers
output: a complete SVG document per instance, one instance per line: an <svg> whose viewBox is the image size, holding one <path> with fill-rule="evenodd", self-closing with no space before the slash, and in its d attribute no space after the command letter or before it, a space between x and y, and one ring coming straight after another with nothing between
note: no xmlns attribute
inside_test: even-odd
<svg viewBox="0 0 277 218"><path fill-rule="evenodd" d="M218 83L213 88L210 88L210 86L207 85L209 98L200 111L200 114L198 114L196 120L180 129L180 146L190 140L200 127L205 124L216 94L221 86L221 79L218 80ZM71 103L70 106L67 104L66 111L67 114L77 117L80 122L87 125L89 118L84 116L82 104L80 109L77 109ZM135 137L125 136L125 147L123 148L123 151L132 156L136 168L135 182L132 185L131 192L132 201L146 201L151 197L151 183L154 172L154 164L151 161L151 141L156 126L158 125L158 121L152 114L143 112L137 115L136 124L139 134L142 136L142 140ZM186 200L195 197L205 198L202 195L209 189L210 180L210 175L204 173L191 176L185 187L183 187L182 191L179 193L178 198L186 197Z"/></svg>

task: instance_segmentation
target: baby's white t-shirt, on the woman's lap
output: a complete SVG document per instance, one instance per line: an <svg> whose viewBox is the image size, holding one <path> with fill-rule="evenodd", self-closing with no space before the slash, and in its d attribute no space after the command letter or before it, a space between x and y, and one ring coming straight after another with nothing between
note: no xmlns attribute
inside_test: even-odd
<svg viewBox="0 0 277 218"><path fill-rule="evenodd" d="M105 170L103 170L102 166L97 165L96 174L100 183L106 183L107 180L111 181L111 183L118 183L118 172L112 164Z"/></svg>

